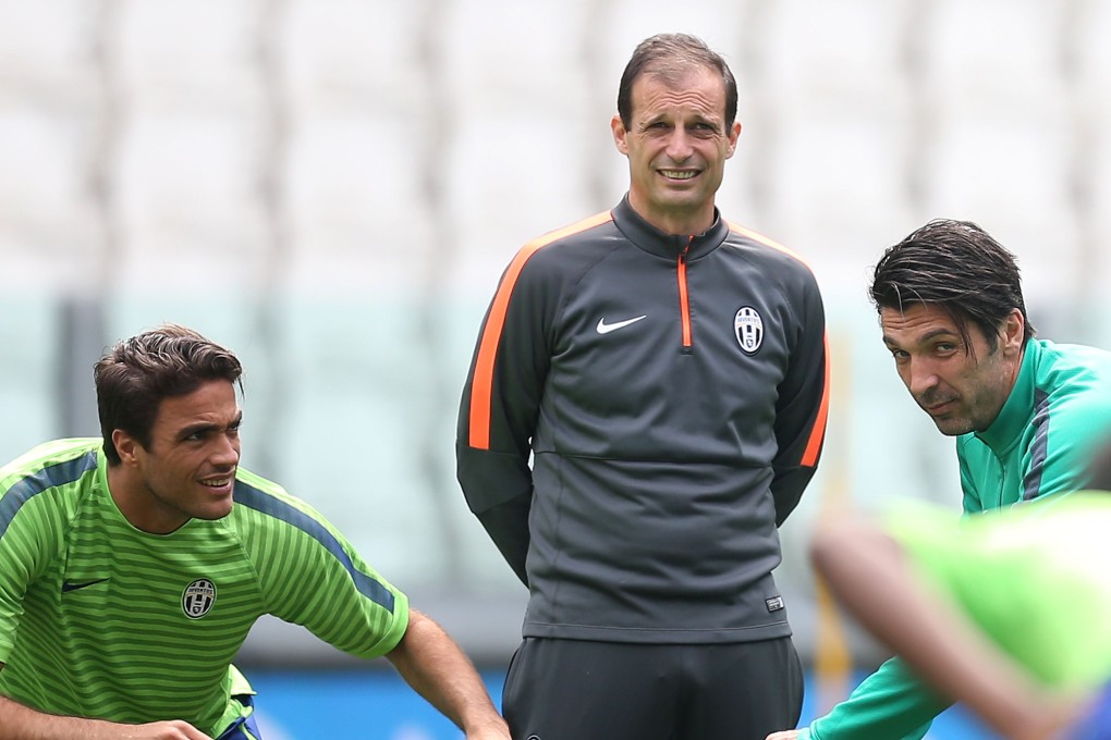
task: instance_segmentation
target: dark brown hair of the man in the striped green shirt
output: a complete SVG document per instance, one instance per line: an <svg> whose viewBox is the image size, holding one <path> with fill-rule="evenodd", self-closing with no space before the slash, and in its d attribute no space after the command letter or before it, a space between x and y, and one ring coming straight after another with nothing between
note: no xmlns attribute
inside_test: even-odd
<svg viewBox="0 0 1111 740"><path fill-rule="evenodd" d="M192 393L210 381L228 381L242 391L242 365L230 351L177 324L119 342L92 373L108 463L120 463L113 430L127 432L150 449L163 398Z"/></svg>

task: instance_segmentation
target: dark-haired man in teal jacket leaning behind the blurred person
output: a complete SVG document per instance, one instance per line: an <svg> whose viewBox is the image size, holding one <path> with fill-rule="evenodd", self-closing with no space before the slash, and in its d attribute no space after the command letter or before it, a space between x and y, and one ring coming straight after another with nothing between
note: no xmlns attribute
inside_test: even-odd
<svg viewBox="0 0 1111 740"><path fill-rule="evenodd" d="M871 298L899 377L957 437L965 514L1087 487L1111 432L1111 353L1034 337L1008 250L973 223L931 221L883 254ZM894 658L768 740L918 739L948 704Z"/></svg>

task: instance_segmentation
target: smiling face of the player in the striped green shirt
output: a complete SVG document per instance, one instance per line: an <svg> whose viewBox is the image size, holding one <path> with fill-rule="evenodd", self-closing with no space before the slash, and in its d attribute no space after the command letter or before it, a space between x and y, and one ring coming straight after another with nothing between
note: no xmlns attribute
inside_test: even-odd
<svg viewBox="0 0 1111 740"><path fill-rule="evenodd" d="M116 429L121 465L109 468L112 497L143 531L171 533L192 518L231 511L239 465L242 412L228 381L209 381L192 393L163 398L149 448Z"/></svg>

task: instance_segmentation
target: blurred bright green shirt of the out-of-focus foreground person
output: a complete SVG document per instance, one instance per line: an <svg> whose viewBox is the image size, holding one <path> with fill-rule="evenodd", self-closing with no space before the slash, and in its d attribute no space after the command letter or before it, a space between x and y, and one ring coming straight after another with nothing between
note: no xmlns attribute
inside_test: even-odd
<svg viewBox="0 0 1111 740"><path fill-rule="evenodd" d="M912 566L1047 686L1111 678L1111 493L954 520L915 506L885 528Z"/></svg>

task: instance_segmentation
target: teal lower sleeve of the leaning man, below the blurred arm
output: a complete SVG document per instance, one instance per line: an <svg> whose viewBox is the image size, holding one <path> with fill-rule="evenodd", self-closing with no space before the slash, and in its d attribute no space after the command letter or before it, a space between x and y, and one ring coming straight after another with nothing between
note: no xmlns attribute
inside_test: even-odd
<svg viewBox="0 0 1111 740"><path fill-rule="evenodd" d="M921 740L948 707L899 658L864 679L852 695L810 724L810 740ZM807 736L800 734L800 740Z"/></svg>

